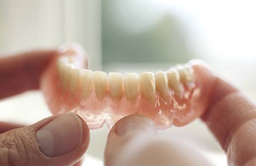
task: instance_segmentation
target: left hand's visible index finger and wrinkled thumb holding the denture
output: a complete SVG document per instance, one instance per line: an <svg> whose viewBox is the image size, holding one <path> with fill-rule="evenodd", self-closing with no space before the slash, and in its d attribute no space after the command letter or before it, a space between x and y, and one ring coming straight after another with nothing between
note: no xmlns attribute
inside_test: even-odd
<svg viewBox="0 0 256 166"><path fill-rule="evenodd" d="M39 89L55 50L0 58L0 99ZM1 110L4 111L4 110ZM54 115L31 126L0 122L0 166L71 166L89 145L88 126L78 115Z"/></svg>

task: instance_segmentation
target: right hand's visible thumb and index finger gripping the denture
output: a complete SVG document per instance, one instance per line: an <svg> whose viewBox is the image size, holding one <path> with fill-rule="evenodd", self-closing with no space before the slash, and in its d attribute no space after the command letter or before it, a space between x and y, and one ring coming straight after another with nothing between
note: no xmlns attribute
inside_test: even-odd
<svg viewBox="0 0 256 166"><path fill-rule="evenodd" d="M208 73L210 77L215 86L201 119L225 151L229 166L256 166L256 105L229 83ZM108 136L106 166L210 165L192 149L157 138L155 132L153 121L143 115L119 120Z"/></svg>

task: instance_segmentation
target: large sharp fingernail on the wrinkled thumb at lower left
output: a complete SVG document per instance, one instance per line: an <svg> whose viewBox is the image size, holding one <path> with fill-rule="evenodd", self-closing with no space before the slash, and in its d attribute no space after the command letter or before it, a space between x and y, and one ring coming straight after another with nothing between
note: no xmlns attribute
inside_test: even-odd
<svg viewBox="0 0 256 166"><path fill-rule="evenodd" d="M35 133L41 152L48 157L60 156L82 145L82 121L74 113L52 120Z"/></svg>

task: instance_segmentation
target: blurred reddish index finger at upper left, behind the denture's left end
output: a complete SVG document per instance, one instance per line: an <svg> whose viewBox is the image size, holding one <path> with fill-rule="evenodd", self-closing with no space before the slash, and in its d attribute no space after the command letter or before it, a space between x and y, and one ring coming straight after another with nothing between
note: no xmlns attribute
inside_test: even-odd
<svg viewBox="0 0 256 166"><path fill-rule="evenodd" d="M0 58L0 99L39 88L44 68L56 50L38 50Z"/></svg>

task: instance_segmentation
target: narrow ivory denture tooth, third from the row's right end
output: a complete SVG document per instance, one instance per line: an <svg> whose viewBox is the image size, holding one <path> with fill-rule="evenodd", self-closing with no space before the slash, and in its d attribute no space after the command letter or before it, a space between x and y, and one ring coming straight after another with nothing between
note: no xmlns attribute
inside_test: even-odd
<svg viewBox="0 0 256 166"><path fill-rule="evenodd" d="M176 69L170 69L166 72L169 88L172 88L176 94L180 94L180 75Z"/></svg>

